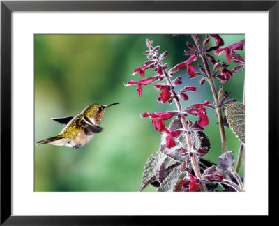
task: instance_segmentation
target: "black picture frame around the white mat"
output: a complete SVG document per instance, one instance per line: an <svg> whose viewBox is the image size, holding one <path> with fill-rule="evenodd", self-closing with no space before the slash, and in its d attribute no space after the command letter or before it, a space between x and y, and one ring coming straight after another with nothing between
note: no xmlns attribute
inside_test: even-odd
<svg viewBox="0 0 279 226"><path fill-rule="evenodd" d="M1 225L154 225L170 216L11 215L11 13L13 11L268 11L269 216L278 165L279 1L1 1ZM260 31L259 31L260 32ZM258 110L255 109L255 112ZM260 112L260 110L259 110ZM259 114L260 115L260 114ZM260 131L259 131L260 133ZM259 163L260 164L260 163ZM260 179L259 179L260 180ZM260 183L260 181L259 181ZM260 188L255 188L260 189ZM256 197L255 197L256 198ZM183 222L183 216L176 216ZM185 220L185 219L184 219Z"/></svg>

